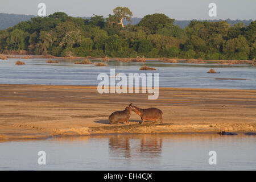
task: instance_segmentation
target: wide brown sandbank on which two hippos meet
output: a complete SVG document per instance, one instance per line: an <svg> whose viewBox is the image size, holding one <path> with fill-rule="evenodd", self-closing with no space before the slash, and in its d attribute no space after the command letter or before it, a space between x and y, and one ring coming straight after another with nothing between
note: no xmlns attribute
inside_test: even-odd
<svg viewBox="0 0 256 182"><path fill-rule="evenodd" d="M109 125L126 105L158 107L164 124L133 113L130 126ZM147 94L99 94L96 86L0 85L0 140L112 133L256 131L256 90L160 88Z"/></svg>

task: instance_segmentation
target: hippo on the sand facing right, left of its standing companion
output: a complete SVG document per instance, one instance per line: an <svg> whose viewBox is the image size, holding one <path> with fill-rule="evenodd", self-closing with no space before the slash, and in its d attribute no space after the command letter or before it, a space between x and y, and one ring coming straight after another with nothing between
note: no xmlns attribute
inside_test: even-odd
<svg viewBox="0 0 256 182"><path fill-rule="evenodd" d="M110 124L126 122L127 125L129 125L129 119L131 116L131 105L133 104L130 104L127 107L125 107L125 110L115 111L114 113L110 114Z"/></svg>

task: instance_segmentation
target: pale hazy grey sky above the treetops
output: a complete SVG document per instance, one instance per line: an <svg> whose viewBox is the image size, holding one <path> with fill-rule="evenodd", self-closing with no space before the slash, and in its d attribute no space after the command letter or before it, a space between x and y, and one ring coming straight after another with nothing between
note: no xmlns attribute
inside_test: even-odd
<svg viewBox="0 0 256 182"><path fill-rule="evenodd" d="M255 19L256 0L0 0L0 13L37 15L38 4L46 3L47 15L63 11L70 16L113 13L117 6L127 6L134 17L163 13L184 19ZM217 5L217 17L209 17L208 5Z"/></svg>

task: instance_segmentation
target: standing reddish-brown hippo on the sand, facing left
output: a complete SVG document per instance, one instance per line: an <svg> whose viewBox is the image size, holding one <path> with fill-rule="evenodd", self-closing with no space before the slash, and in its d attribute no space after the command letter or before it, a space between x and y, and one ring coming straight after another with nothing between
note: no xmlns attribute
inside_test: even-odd
<svg viewBox="0 0 256 182"><path fill-rule="evenodd" d="M141 124L143 124L144 121L154 121L153 123L156 123L158 122L158 119L160 119L160 123L163 123L163 112L158 108L151 107L148 109L141 109L131 105L131 110L141 117Z"/></svg>

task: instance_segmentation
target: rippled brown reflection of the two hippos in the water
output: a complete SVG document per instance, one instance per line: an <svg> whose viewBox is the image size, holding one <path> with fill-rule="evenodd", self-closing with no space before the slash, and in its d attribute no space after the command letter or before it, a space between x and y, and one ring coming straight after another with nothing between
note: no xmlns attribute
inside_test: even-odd
<svg viewBox="0 0 256 182"><path fill-rule="evenodd" d="M138 141L140 144L137 143ZM133 152L134 155L138 155L138 151L140 155L155 156L161 154L162 143L162 137L151 135L112 136L109 138L109 149L112 154L125 158L130 158Z"/></svg>

